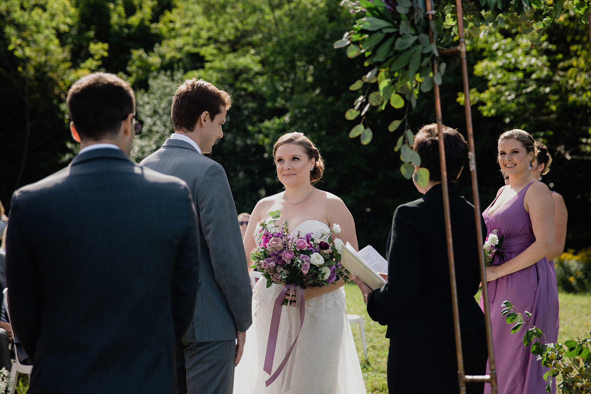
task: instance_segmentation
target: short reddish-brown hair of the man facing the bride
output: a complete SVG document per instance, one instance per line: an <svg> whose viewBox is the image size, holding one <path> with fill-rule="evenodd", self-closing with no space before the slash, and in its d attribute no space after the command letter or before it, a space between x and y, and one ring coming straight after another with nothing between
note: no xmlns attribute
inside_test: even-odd
<svg viewBox="0 0 591 394"><path fill-rule="evenodd" d="M231 105L230 95L213 84L203 79L187 79L174 93L171 108L174 130L191 132L203 112L207 111L213 120L222 112L220 106L228 109Z"/></svg>

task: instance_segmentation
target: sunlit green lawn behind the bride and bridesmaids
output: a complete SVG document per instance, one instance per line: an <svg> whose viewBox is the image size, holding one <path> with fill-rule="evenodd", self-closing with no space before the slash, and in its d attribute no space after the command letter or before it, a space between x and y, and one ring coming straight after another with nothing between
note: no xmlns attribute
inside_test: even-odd
<svg viewBox="0 0 591 394"><path fill-rule="evenodd" d="M368 361L363 356L361 333L359 324L351 325L353 338L357 347L357 354L361 360L361 369L365 388L369 394L387 393L386 364L388 360L389 340L384 336L386 327L372 321L367 314L361 292L353 284L345 285L347 295L347 311L349 314L363 315L365 339L368 346ZM478 294L478 298L480 295ZM558 341L564 342L569 338L588 338L588 328L591 328L591 294L558 294L560 299L560 331Z"/></svg>

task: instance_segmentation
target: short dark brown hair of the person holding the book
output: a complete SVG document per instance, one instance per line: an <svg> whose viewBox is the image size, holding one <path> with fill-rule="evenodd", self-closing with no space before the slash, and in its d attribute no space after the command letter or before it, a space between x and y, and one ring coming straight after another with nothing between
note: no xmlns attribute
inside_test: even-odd
<svg viewBox="0 0 591 394"><path fill-rule="evenodd" d="M457 175L468 158L468 144L457 130L443 126L443 145L447 167L447 180L456 182ZM437 123L423 126L414 136L413 149L421 157L421 167L429 170L432 181L441 181L439 162L439 135Z"/></svg>

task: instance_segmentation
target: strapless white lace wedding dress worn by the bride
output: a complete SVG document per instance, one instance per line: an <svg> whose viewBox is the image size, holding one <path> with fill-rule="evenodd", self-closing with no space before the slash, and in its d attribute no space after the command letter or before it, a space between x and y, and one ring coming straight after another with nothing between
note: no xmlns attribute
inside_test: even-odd
<svg viewBox="0 0 591 394"><path fill-rule="evenodd" d="M313 237L317 239L321 233L330 232L330 229L325 223L308 220L293 229L291 235L297 236L298 231L301 235L313 233ZM255 234L258 235L258 231ZM256 282L252 294L252 326L246 331L244 353L235 370L233 394L286 392L287 372L291 363L293 363L293 375L288 393L365 394L359 357L347 320L343 288L306 300L306 317L297 347L281 375L269 387L265 386L265 381L270 377L263 371L263 364L267 351L271 314L275 298L282 288L282 285L277 284L267 288L265 278ZM291 338L295 338L300 321L296 308L291 309L289 313ZM288 307L282 307L273 372L285 357L289 328ZM289 345L291 346L291 343Z"/></svg>

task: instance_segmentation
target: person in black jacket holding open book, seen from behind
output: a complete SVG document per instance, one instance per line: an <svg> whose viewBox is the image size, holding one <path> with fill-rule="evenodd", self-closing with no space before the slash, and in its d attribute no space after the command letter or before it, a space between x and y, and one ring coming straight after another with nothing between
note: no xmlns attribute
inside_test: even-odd
<svg viewBox="0 0 591 394"><path fill-rule="evenodd" d="M443 126L443 133L447 176L455 182L468 146L454 129ZM387 282L372 291L359 278L354 281L372 320L388 325L389 392L406 393L411 385L413 393L459 393L436 124L417 133L413 149L430 180L426 187L415 184L423 198L402 204L394 213ZM485 321L474 298L480 283L474 206L454 183L449 183L449 200L464 368L466 375L484 375ZM482 393L484 384L468 383L466 388L467 393Z"/></svg>

